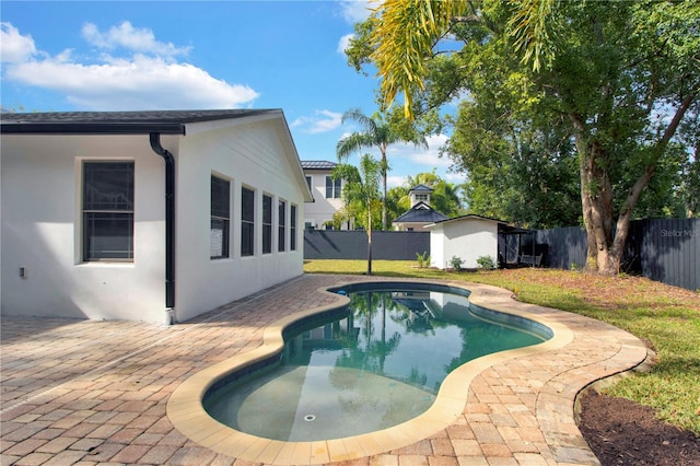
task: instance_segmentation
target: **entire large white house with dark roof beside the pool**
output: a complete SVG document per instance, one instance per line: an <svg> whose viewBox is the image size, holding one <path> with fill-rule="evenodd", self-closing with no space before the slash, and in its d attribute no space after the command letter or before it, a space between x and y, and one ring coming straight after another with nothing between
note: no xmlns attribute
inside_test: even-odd
<svg viewBox="0 0 700 466"><path fill-rule="evenodd" d="M303 273L279 109L2 114L1 312L187 321Z"/></svg>

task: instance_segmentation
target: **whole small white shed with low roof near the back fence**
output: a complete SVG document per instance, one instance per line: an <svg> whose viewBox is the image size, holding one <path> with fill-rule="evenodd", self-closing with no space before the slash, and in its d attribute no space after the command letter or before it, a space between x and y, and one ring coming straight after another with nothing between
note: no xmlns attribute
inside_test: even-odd
<svg viewBox="0 0 700 466"><path fill-rule="evenodd" d="M477 259L482 256L489 256L494 264L502 263L508 255L508 236L527 232L500 220L474 214L442 220L425 229L430 230L432 266L441 269L451 268L453 257L460 258L465 269L477 268ZM520 255L520 241L517 248Z"/></svg>

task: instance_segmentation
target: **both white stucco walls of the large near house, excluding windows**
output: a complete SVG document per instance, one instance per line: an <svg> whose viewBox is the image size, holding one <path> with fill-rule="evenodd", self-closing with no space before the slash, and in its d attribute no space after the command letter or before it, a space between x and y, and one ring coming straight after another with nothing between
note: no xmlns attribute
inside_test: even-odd
<svg viewBox="0 0 700 466"><path fill-rule="evenodd" d="M303 273L306 185L284 119L241 118L163 136L175 156L175 319ZM149 136L3 135L0 155L4 315L165 318L165 164ZM82 261L83 160L135 161L135 259ZM211 175L231 180L230 257L210 259ZM256 193L255 255L241 257L241 187ZM272 197L272 253L261 254L262 194ZM285 201L285 249L278 205ZM290 249L296 207L296 251ZM20 277L24 267L26 278Z"/></svg>

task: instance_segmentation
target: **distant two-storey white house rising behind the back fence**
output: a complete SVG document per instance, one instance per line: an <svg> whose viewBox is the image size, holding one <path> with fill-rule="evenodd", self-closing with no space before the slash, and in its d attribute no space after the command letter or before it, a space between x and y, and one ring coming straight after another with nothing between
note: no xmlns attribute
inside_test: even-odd
<svg viewBox="0 0 700 466"><path fill-rule="evenodd" d="M332 179L330 176L337 163L318 160L302 161L304 176L308 189L314 196L313 203L304 207L304 228L318 230L332 230L332 217L342 209L341 179ZM350 230L352 222L343 222L341 230Z"/></svg>

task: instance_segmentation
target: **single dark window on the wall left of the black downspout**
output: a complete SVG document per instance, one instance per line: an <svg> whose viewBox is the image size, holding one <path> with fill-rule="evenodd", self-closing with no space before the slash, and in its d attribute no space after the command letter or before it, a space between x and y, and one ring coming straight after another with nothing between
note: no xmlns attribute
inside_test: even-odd
<svg viewBox="0 0 700 466"><path fill-rule="evenodd" d="M83 162L83 260L133 260L133 161Z"/></svg>

